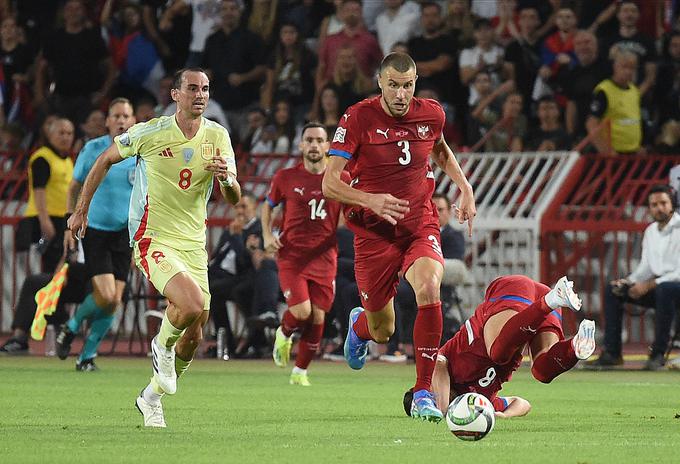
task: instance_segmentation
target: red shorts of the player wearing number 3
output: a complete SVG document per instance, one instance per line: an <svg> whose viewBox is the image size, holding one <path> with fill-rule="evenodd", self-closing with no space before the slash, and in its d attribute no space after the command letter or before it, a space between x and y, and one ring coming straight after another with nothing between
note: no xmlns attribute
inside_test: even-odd
<svg viewBox="0 0 680 464"><path fill-rule="evenodd" d="M354 239L354 274L366 311L380 311L397 293L399 273L406 274L418 258L432 258L444 265L439 225L427 224L416 234L387 240Z"/></svg>

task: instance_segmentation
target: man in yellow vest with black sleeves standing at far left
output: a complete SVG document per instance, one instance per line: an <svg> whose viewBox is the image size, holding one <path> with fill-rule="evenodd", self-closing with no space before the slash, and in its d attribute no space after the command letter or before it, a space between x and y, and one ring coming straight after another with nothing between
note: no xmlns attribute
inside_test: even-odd
<svg viewBox="0 0 680 464"><path fill-rule="evenodd" d="M54 118L46 136L47 143L28 159L28 205L17 237L33 243L42 239L42 270L52 272L64 252L66 194L73 177L73 123Z"/></svg>

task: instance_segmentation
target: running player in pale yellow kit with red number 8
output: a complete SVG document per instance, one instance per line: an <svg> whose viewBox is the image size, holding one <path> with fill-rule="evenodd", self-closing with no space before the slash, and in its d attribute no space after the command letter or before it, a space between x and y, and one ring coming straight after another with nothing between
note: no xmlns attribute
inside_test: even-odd
<svg viewBox="0 0 680 464"><path fill-rule="evenodd" d="M136 400L150 427L165 427L161 397L176 392L177 377L189 367L208 320L205 221L213 178L229 203L241 197L229 134L202 116L209 98L205 72L178 71L170 92L177 112L115 137L92 167L68 220L71 234L82 237L90 201L108 169L137 157L128 223L134 257L170 302L151 343L153 377Z"/></svg>

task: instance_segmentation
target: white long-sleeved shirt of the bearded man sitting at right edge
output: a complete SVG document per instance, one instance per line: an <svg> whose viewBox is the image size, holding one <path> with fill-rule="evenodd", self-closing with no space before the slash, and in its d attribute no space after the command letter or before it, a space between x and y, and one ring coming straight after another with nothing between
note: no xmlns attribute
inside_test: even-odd
<svg viewBox="0 0 680 464"><path fill-rule="evenodd" d="M642 258L635 271L628 276L632 282L654 279L662 282L680 282L680 214L673 217L662 230L653 222L645 229L642 238Z"/></svg>

